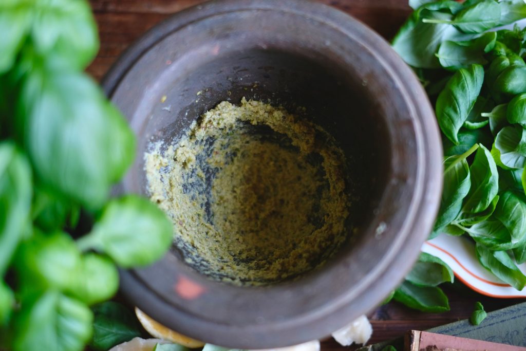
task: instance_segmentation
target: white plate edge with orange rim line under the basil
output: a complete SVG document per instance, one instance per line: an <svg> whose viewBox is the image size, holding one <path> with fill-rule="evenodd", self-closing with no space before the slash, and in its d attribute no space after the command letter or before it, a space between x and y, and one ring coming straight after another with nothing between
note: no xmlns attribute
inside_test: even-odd
<svg viewBox="0 0 526 351"><path fill-rule="evenodd" d="M466 238L440 234L425 242L422 251L442 259L462 283L480 294L498 298L526 297L526 288L518 291L482 267L475 254L475 245ZM519 269L526 274L526 263L519 265Z"/></svg>

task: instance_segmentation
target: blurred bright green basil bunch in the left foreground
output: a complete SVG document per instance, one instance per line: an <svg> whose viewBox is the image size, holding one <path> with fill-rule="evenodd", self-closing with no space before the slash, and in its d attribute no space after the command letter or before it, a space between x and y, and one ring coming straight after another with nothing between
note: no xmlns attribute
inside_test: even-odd
<svg viewBox="0 0 526 351"><path fill-rule="evenodd" d="M82 72L98 51L88 3L2 0L0 33L0 348L82 350L116 264L160 258L171 224L147 199L108 199L135 137ZM81 209L94 224L74 240Z"/></svg>

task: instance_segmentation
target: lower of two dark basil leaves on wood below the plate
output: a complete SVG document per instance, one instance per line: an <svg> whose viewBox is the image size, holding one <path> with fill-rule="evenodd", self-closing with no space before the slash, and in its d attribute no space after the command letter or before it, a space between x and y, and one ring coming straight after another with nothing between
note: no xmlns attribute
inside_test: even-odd
<svg viewBox="0 0 526 351"><path fill-rule="evenodd" d="M393 299L423 312L449 311L448 297L434 286L421 287L405 281L395 290Z"/></svg>

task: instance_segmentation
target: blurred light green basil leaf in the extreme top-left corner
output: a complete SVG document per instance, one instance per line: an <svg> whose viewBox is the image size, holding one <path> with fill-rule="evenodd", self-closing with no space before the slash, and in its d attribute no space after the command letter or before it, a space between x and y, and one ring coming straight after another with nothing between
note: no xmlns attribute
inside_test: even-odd
<svg viewBox="0 0 526 351"><path fill-rule="evenodd" d="M19 0L0 2L0 74L15 63L18 50L29 32L32 21L31 3Z"/></svg>

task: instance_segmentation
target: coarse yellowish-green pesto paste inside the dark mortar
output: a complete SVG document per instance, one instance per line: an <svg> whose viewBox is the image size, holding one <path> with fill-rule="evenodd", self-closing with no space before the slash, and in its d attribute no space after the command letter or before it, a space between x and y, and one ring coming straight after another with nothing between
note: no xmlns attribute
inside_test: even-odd
<svg viewBox="0 0 526 351"><path fill-rule="evenodd" d="M296 277L346 240L345 157L321 127L283 108L221 102L177 143L150 149L151 200L173 220L186 262L211 278Z"/></svg>

